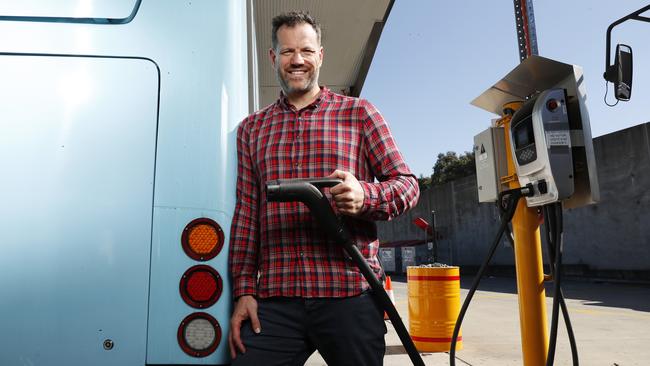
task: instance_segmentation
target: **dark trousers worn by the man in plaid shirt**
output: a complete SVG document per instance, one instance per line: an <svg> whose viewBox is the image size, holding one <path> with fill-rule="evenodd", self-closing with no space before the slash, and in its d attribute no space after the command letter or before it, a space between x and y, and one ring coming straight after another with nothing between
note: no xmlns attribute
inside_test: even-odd
<svg viewBox="0 0 650 366"><path fill-rule="evenodd" d="M328 365L382 365L384 311L370 292L341 299L258 300L260 334L241 329L246 353L233 366L303 365L318 350Z"/></svg>

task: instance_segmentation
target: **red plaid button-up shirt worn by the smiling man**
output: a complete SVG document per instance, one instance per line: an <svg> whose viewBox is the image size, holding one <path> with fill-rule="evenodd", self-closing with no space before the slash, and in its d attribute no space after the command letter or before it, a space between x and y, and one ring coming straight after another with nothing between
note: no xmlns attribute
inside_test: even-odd
<svg viewBox="0 0 650 366"><path fill-rule="evenodd" d="M346 221L379 276L372 220L389 220L413 207L419 189L375 107L327 88L300 111L281 96L244 119L237 151L229 253L234 297L347 297L366 290L361 272L341 246L328 241L307 207L267 202L264 187L269 180L325 177L335 169L354 174L365 193L363 213Z"/></svg>

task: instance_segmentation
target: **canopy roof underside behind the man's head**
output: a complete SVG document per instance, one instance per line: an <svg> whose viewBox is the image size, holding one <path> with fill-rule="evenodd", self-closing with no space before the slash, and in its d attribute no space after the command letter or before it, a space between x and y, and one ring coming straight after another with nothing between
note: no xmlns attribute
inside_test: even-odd
<svg viewBox="0 0 650 366"><path fill-rule="evenodd" d="M320 85L338 93L358 96L370 68L379 36L394 0L251 0L255 45L251 70L257 73L258 105L273 103L280 87L268 58L271 48L271 19L291 10L308 11L322 26L322 44L325 49L320 71ZM250 48L249 48L250 49ZM253 96L255 99L255 96Z"/></svg>

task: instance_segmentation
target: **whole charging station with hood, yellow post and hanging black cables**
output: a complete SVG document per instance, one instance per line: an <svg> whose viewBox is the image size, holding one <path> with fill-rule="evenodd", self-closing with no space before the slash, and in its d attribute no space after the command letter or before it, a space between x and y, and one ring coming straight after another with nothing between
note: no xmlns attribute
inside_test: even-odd
<svg viewBox="0 0 650 366"><path fill-rule="evenodd" d="M523 364L553 365L560 307L573 364L579 364L560 282L562 211L600 198L586 97L582 68L529 55L472 101L500 116L474 137L474 152L479 202L497 203L501 225L461 307L449 353L452 366L462 319L511 221ZM542 261L542 214L548 275ZM545 288L540 286L545 281L554 284L550 336Z"/></svg>

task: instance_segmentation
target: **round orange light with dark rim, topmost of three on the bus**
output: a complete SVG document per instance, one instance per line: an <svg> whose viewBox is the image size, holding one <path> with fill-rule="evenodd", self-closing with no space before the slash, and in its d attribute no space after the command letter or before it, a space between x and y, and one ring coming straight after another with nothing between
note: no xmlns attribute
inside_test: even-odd
<svg viewBox="0 0 650 366"><path fill-rule="evenodd" d="M185 254L198 261L210 260L223 247L224 235L219 224L206 217L192 220L181 236Z"/></svg>

